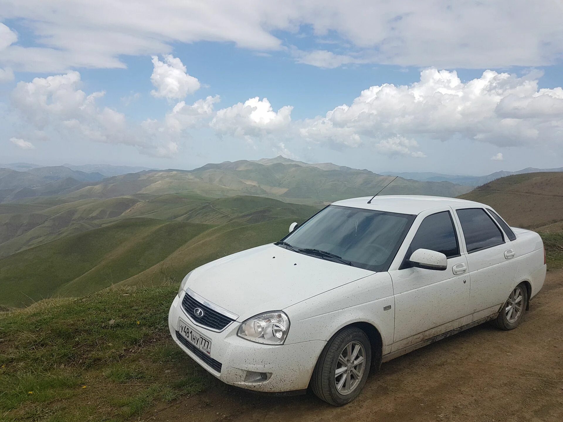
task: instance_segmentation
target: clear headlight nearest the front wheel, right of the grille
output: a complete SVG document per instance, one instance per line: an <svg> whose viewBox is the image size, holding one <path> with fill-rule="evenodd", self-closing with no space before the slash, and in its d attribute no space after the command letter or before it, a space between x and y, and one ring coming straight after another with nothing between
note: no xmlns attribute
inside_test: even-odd
<svg viewBox="0 0 563 422"><path fill-rule="evenodd" d="M264 344L283 344L289 331L289 318L282 311L266 312L242 324L236 333L243 339Z"/></svg>

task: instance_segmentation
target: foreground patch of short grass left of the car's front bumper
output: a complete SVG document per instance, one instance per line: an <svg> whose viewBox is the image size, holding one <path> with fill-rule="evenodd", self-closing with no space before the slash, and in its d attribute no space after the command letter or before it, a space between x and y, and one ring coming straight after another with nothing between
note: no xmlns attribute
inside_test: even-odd
<svg viewBox="0 0 563 422"><path fill-rule="evenodd" d="M0 313L0 420L124 421L208 375L169 338L177 286L48 299Z"/></svg>

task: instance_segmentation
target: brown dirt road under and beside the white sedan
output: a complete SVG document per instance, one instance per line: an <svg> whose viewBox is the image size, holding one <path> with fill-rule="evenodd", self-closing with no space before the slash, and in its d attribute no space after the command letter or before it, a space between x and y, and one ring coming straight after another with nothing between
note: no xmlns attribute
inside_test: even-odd
<svg viewBox="0 0 563 422"><path fill-rule="evenodd" d="M145 419L164 421L563 421L563 271L548 272L520 327L482 325L369 376L358 399L262 397L216 381Z"/></svg>

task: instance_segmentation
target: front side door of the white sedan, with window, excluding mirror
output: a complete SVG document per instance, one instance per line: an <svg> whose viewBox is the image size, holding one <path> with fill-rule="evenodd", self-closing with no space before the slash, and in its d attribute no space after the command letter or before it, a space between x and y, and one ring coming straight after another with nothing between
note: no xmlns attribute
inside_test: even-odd
<svg viewBox="0 0 563 422"><path fill-rule="evenodd" d="M458 239L449 210L431 214L422 220L399 270L389 271L395 294L392 351L462 325L468 314L470 279ZM419 248L445 254L448 268L438 271L413 267L408 258Z"/></svg>

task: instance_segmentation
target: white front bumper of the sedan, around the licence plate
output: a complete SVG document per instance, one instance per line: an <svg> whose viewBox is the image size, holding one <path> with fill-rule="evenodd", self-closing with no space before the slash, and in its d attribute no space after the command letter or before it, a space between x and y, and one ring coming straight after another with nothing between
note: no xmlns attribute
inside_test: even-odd
<svg viewBox="0 0 563 422"><path fill-rule="evenodd" d="M221 371L213 369L178 340L178 320L192 326L212 342L211 358L221 363ZM217 333L194 324L176 296L168 313L168 329L172 338L194 361L226 384L262 392L287 392L306 389L316 361L326 344L321 340L269 345L254 343L236 335L242 321L231 322ZM249 382L249 372L268 374L266 380ZM252 378L252 377L250 377Z"/></svg>

